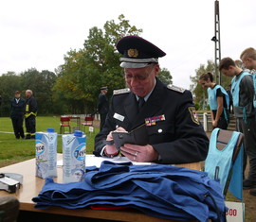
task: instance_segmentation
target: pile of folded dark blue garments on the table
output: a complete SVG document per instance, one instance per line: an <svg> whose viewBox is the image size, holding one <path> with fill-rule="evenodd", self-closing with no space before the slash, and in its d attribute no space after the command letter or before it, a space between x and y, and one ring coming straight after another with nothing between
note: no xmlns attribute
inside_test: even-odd
<svg viewBox="0 0 256 222"><path fill-rule="evenodd" d="M46 178L36 208L69 209L91 205L129 206L176 220L225 221L227 208L218 181L207 173L162 164L102 162L87 168L85 181L55 183Z"/></svg>

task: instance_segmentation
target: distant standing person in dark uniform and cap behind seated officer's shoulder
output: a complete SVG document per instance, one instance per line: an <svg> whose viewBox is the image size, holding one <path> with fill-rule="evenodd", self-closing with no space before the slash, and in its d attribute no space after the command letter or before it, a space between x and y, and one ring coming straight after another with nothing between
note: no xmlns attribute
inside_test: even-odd
<svg viewBox="0 0 256 222"><path fill-rule="evenodd" d="M104 126L105 120L106 120L106 115L109 110L109 104L108 104L108 98L106 96L107 94L107 87L101 87L101 94L99 94L98 98L98 111L101 115L101 129Z"/></svg>

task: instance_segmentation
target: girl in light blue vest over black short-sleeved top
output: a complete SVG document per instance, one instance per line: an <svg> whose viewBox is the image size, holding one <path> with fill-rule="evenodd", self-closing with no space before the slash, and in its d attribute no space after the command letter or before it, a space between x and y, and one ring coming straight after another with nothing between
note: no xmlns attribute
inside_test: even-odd
<svg viewBox="0 0 256 222"><path fill-rule="evenodd" d="M229 94L221 85L213 81L211 73L202 74L199 77L199 83L203 88L208 89L212 127L227 129L229 125Z"/></svg>

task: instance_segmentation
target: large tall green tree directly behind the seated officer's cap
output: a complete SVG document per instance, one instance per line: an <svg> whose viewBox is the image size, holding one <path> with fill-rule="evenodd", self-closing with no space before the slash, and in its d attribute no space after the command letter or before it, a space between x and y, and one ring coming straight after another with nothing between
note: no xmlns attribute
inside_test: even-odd
<svg viewBox="0 0 256 222"><path fill-rule="evenodd" d="M111 20L105 23L103 29L92 27L83 48L67 52L64 64L59 66L57 82L53 87L56 101L63 97L71 105L69 111L73 113L96 111L102 86L107 86L109 92L125 87L116 43L123 36L138 36L141 32L142 29L131 26L123 15L119 15L119 23ZM160 78L172 83L167 69L161 71ZM111 93L107 95L111 96Z"/></svg>

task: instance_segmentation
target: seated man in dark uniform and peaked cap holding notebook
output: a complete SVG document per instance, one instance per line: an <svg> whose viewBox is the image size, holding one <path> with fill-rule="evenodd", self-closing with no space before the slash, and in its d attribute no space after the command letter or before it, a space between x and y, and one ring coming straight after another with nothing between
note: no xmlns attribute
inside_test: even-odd
<svg viewBox="0 0 256 222"><path fill-rule="evenodd" d="M158 58L166 54L137 36L120 39L117 48L129 88L114 92L105 125L95 138L95 155L118 155L112 131L131 131L147 123L148 145L120 147L129 160L168 164L205 160L209 139L195 118L191 92L157 78Z"/></svg>

